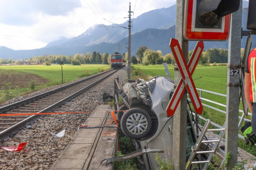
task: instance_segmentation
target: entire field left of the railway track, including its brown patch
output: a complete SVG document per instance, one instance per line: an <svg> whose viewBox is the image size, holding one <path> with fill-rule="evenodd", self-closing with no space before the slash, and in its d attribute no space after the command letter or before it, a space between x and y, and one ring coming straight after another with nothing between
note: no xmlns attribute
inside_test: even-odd
<svg viewBox="0 0 256 170"><path fill-rule="evenodd" d="M62 65L62 70L61 65L0 65L0 103L47 86L62 84L62 74L63 83L67 83L99 73L102 68L111 69L110 65L102 64L66 64ZM33 80L36 86L31 89L30 81Z"/></svg>

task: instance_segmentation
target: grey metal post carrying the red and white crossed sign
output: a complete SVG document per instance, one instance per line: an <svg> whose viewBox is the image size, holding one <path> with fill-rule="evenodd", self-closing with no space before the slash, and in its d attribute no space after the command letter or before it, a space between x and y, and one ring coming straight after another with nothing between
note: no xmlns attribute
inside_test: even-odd
<svg viewBox="0 0 256 170"><path fill-rule="evenodd" d="M183 38L183 21L185 0L176 1L176 35L186 62L188 62L188 41ZM176 67L177 68L177 67ZM175 69L175 86L177 86L181 74ZM173 168L174 170L186 169L186 108L187 92L185 91L173 119Z"/></svg>

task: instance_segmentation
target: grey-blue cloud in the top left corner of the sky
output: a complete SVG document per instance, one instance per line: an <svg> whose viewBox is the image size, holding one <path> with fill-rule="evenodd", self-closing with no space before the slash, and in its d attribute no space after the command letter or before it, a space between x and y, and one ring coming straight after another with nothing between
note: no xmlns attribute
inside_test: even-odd
<svg viewBox="0 0 256 170"><path fill-rule="evenodd" d="M38 15L68 15L81 7L80 0L1 0L0 23L27 26L38 22Z"/></svg>

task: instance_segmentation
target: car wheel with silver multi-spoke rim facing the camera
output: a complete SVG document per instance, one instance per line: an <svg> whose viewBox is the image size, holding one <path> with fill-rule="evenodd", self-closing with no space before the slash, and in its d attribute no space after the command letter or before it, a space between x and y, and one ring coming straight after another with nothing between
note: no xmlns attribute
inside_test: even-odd
<svg viewBox="0 0 256 170"><path fill-rule="evenodd" d="M124 112L120 125L126 136L133 139L140 139L149 134L152 120L145 110L141 108L131 108Z"/></svg>

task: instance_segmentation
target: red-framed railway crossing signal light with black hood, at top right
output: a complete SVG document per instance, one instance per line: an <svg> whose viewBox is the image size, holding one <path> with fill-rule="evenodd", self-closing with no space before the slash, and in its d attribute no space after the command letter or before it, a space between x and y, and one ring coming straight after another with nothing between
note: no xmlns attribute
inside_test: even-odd
<svg viewBox="0 0 256 170"><path fill-rule="evenodd" d="M240 0L186 0L183 36L186 40L226 41L230 15Z"/></svg>

